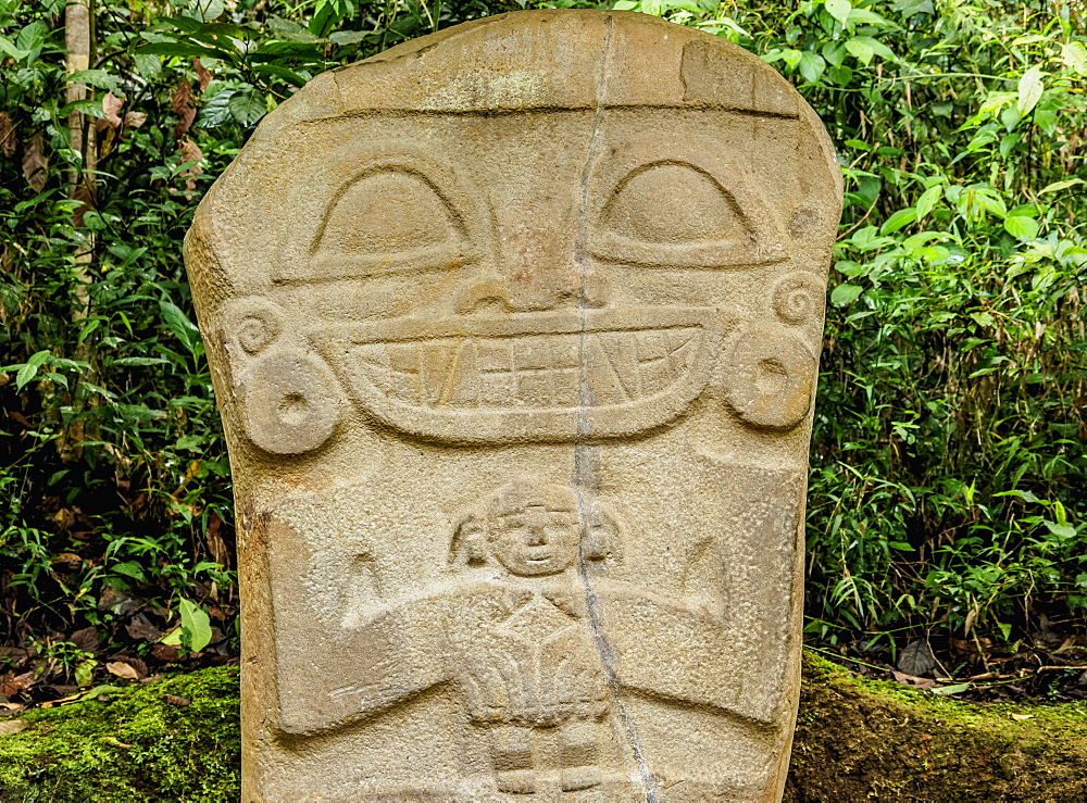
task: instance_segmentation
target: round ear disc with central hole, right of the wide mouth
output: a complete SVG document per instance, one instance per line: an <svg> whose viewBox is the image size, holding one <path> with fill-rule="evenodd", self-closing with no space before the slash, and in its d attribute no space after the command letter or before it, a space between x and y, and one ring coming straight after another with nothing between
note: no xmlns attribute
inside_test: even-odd
<svg viewBox="0 0 1087 803"><path fill-rule="evenodd" d="M725 359L725 400L740 421L760 429L792 429L812 403L819 364L796 335L754 325Z"/></svg>

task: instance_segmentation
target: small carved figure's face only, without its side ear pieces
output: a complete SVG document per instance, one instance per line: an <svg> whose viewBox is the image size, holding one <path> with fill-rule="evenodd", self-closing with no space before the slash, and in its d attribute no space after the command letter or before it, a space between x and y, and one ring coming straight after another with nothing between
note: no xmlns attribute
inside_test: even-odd
<svg viewBox="0 0 1087 803"><path fill-rule="evenodd" d="M565 572L577 557L582 527L577 511L532 505L498 518L488 534L491 555L518 577Z"/></svg>

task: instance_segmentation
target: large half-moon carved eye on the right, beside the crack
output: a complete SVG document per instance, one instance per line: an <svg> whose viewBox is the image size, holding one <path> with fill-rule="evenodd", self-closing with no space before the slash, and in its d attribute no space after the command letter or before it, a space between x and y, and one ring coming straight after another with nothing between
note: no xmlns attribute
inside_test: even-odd
<svg viewBox="0 0 1087 803"><path fill-rule="evenodd" d="M763 204L750 188L735 189L726 189L690 162L644 164L615 186L601 210L594 255L607 262L678 267L761 265L785 259Z"/></svg>

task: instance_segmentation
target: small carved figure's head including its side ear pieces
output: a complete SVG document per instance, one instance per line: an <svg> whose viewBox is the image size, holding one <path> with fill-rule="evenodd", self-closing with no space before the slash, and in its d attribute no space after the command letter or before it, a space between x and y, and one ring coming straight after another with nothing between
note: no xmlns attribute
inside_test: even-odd
<svg viewBox="0 0 1087 803"><path fill-rule="evenodd" d="M453 540L453 560L491 561L517 577L548 577L570 569L578 551L588 561L615 552L617 526L599 504L584 512L562 486L513 482L468 514Z"/></svg>

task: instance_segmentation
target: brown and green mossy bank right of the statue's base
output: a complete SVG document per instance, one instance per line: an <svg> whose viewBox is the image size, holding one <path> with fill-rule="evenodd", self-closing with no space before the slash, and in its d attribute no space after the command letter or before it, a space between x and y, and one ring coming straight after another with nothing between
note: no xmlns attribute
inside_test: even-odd
<svg viewBox="0 0 1087 803"><path fill-rule="evenodd" d="M972 705L805 655L785 800L1087 801L1087 703Z"/></svg>

